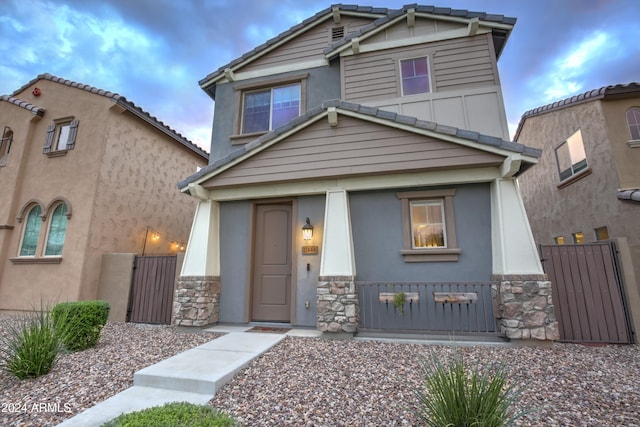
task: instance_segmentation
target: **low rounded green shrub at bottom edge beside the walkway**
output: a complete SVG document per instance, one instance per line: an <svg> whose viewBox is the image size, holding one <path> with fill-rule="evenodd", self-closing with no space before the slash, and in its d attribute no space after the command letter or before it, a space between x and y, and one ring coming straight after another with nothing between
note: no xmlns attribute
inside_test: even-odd
<svg viewBox="0 0 640 427"><path fill-rule="evenodd" d="M167 403L142 411L122 414L103 427L236 427L232 417L209 405Z"/></svg>

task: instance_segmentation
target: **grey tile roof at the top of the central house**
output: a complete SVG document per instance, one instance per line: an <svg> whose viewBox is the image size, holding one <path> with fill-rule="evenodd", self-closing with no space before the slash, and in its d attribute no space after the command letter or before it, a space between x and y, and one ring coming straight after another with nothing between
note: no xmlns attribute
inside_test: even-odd
<svg viewBox="0 0 640 427"><path fill-rule="evenodd" d="M228 64L223 65L222 67L218 68L216 71L202 78L198 82L198 84L201 86L204 85L207 81L222 75L225 69L233 68L234 66L244 62L245 60L251 58L252 56L257 55L263 50L273 46L274 44L283 41L287 37L293 35L297 31L319 20L320 18L331 15L333 8L338 8L340 11L344 11L344 12L371 14L372 18L375 18L377 15L379 16L379 18L373 21L371 24L363 27L360 31L351 33L347 35L347 37L345 37L344 39L337 41L336 43L331 45L331 47L328 48L328 51L331 51L345 43L348 43L349 40L351 40L353 37L359 37L365 32L371 31L375 28L378 28L381 25L384 25L385 23L389 22L393 18L406 13L409 9L415 9L416 12L418 13L429 13L433 15L451 16L451 17L465 18L465 19L479 18L483 21L490 21L490 22L507 24L507 25L514 25L516 23L516 18L509 18L503 15L487 14L485 12L470 12L464 9L451 9L448 7L421 6L418 4L409 4L409 5L403 6L401 9L389 9L385 7L358 6L358 5L349 5L349 4L344 5L344 4L338 3L338 4L333 4L330 7L321 10L315 15L305 19L304 21L294 25L288 30L266 41L260 46L257 46L251 51L246 52L239 58L236 58L233 61L229 62Z"/></svg>

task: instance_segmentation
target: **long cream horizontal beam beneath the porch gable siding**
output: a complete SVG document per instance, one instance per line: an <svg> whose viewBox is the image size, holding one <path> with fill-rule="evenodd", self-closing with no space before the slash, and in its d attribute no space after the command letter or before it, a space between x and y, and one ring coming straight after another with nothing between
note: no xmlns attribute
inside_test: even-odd
<svg viewBox="0 0 640 427"><path fill-rule="evenodd" d="M211 199L222 202L324 194L327 191L335 189L365 191L435 185L472 184L492 182L499 178L500 169L498 167L484 167L256 184L245 187L211 189L209 190L209 194Z"/></svg>

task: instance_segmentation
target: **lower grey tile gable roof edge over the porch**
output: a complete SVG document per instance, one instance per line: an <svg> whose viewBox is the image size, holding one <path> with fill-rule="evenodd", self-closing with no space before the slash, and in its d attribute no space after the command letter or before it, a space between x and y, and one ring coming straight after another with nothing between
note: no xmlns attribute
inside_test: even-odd
<svg viewBox="0 0 640 427"><path fill-rule="evenodd" d="M526 169L533 163L531 162L531 159L537 159L542 154L542 150L540 149L527 147L516 142L504 141L500 138L483 135L478 132L458 129L435 122L418 120L415 117L404 116L390 111L381 110L379 108L367 107L341 100L330 100L323 102L322 105L307 111L305 114L291 120L281 127L243 145L228 154L226 157L202 168L197 173L179 182L178 188L185 191L190 183L200 183L209 179L220 170L226 169L233 164L242 161L244 158L260 152L270 143L277 141L279 138L285 137L297 128L304 127L305 124L313 122L318 116L326 114L327 111L332 108L342 110L345 113L355 113L361 118L376 120L387 126L402 127L405 128L405 130L416 133L428 133L436 138L452 140L461 145L473 146L474 148L499 153L504 156L508 156L510 153L521 154L525 156L525 158L528 157L530 159L529 162L527 162L526 159L524 160L522 170Z"/></svg>

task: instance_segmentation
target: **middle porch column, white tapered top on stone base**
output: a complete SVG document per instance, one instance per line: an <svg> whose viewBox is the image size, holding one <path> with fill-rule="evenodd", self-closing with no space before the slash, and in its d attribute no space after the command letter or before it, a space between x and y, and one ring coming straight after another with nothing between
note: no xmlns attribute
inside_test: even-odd
<svg viewBox="0 0 640 427"><path fill-rule="evenodd" d="M351 235L349 199L345 190L327 191L324 239L318 277L317 328L323 332L358 330L358 291Z"/></svg>

